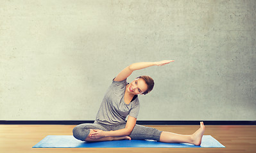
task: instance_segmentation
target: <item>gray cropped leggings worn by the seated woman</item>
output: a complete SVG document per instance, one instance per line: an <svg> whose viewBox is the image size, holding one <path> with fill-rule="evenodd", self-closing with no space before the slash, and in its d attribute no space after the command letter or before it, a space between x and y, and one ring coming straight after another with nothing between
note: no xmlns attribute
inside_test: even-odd
<svg viewBox="0 0 256 153"><path fill-rule="evenodd" d="M124 129L126 124L120 124L118 126L108 126L105 124L99 124L98 122L94 122L94 124L80 124L73 129L73 136L78 140L85 141L87 136L90 133L90 129L101 129L103 131L115 131L118 129ZM130 135L132 140L157 140L160 141L160 135L162 131L159 131L155 128L149 128L146 126L140 126L136 124L133 128L133 131Z"/></svg>

